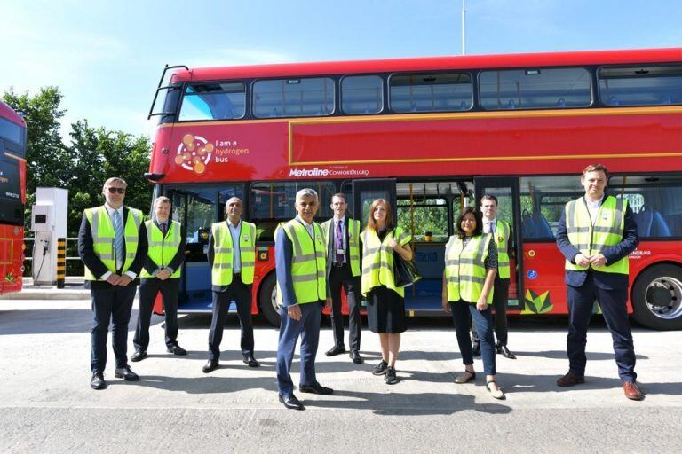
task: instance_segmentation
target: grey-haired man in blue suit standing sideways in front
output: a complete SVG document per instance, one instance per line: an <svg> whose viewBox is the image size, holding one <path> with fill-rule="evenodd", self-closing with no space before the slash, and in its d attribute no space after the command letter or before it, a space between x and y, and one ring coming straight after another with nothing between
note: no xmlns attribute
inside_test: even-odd
<svg viewBox="0 0 682 454"><path fill-rule="evenodd" d="M281 225L274 235L277 292L282 301L280 340L277 346L277 388L280 402L288 409L304 410L294 395L291 363L301 337L302 393L329 395L315 374L315 356L320 340L322 308L331 304L327 280L324 235L314 222L320 203L317 192L302 189L296 194L297 216Z"/></svg>

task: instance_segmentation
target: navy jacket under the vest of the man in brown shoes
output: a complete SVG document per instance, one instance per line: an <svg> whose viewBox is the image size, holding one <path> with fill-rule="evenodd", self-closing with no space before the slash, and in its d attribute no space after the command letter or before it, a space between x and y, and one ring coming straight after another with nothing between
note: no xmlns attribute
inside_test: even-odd
<svg viewBox="0 0 682 454"><path fill-rule="evenodd" d="M605 200L607 195L604 196ZM583 197L584 200L584 197ZM627 257L632 251L637 248L639 244L639 236L637 233L637 223L635 223L635 215L628 205L625 210L625 224L623 226L623 239L615 246L605 247L601 254L607 258L607 266L618 262L623 257ZM568 240L568 232L566 229L566 211L561 214L559 220L559 229L557 229L557 246L564 254L567 261L575 263L575 255L580 254L580 250L573 246ZM587 279L588 273L594 278L594 282L600 288L607 290L623 289L628 287L629 277L618 273L605 273L597 270L574 271L566 270L564 281L567 286L579 287L582 286Z"/></svg>

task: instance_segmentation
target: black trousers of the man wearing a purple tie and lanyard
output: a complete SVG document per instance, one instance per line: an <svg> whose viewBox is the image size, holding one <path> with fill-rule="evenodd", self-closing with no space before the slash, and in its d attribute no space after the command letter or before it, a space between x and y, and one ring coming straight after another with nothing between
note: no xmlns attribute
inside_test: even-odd
<svg viewBox="0 0 682 454"><path fill-rule="evenodd" d="M351 350L360 350L361 337L361 284L360 276L353 277L351 265L331 267L329 288L331 290L331 329L334 332L334 345L344 344L344 316L341 314L341 287L345 290L348 302L348 343Z"/></svg>

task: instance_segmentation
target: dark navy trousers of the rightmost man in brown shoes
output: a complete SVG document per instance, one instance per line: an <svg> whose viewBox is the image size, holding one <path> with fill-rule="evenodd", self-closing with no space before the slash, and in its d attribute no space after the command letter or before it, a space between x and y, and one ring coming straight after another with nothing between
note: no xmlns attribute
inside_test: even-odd
<svg viewBox="0 0 682 454"><path fill-rule="evenodd" d="M590 325L594 301L604 315L608 331L614 342L615 364L623 381L637 380L635 373L635 347L628 320L628 287L606 290L595 285L592 273L588 272L584 284L579 287L567 286L568 337L567 350L570 372L584 375L587 357L587 326Z"/></svg>

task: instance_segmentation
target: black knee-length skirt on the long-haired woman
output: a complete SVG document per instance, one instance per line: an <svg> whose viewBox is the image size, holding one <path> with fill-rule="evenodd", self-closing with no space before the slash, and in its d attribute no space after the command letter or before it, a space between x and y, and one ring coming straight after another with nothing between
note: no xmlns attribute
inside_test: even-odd
<svg viewBox="0 0 682 454"><path fill-rule="evenodd" d="M386 286L367 295L367 325L372 333L403 333L408 329L405 299Z"/></svg>

